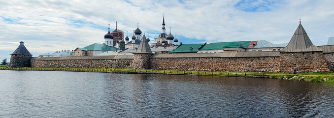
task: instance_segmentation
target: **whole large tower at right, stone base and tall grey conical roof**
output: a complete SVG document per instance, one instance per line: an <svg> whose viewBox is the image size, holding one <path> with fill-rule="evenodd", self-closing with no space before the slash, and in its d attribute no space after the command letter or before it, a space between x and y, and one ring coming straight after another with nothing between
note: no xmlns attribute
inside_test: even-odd
<svg viewBox="0 0 334 118"><path fill-rule="evenodd" d="M301 22L280 57L281 72L328 72L323 49L313 45Z"/></svg>

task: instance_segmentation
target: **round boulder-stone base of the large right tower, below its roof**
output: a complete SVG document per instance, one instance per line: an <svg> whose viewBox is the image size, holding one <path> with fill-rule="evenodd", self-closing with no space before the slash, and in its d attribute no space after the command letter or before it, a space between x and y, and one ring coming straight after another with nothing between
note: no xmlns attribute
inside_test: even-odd
<svg viewBox="0 0 334 118"><path fill-rule="evenodd" d="M280 71L293 72L328 72L330 71L322 52L281 52Z"/></svg>

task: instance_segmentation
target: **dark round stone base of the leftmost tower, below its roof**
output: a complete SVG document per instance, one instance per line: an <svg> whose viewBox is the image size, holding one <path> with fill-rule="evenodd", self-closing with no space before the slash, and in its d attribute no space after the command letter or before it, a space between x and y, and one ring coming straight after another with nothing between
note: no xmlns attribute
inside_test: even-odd
<svg viewBox="0 0 334 118"><path fill-rule="evenodd" d="M31 55L12 55L8 67L30 67Z"/></svg>

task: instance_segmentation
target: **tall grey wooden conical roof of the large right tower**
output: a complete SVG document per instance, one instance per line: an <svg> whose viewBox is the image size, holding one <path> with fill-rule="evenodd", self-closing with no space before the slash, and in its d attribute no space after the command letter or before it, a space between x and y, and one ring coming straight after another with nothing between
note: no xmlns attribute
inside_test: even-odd
<svg viewBox="0 0 334 118"><path fill-rule="evenodd" d="M323 49L313 45L305 29L299 24L289 44L280 52L318 52Z"/></svg>

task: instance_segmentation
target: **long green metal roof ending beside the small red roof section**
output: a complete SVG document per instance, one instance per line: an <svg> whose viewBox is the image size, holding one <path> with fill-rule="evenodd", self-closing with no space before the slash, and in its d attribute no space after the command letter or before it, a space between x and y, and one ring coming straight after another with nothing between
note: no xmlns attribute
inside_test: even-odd
<svg viewBox="0 0 334 118"><path fill-rule="evenodd" d="M224 49L226 46L232 47L234 46L234 44L235 44L235 47L242 46L242 48L245 48L245 47L247 48L250 42L251 41L235 41L234 43L233 42L206 43L200 50L221 50L221 49Z"/></svg>

